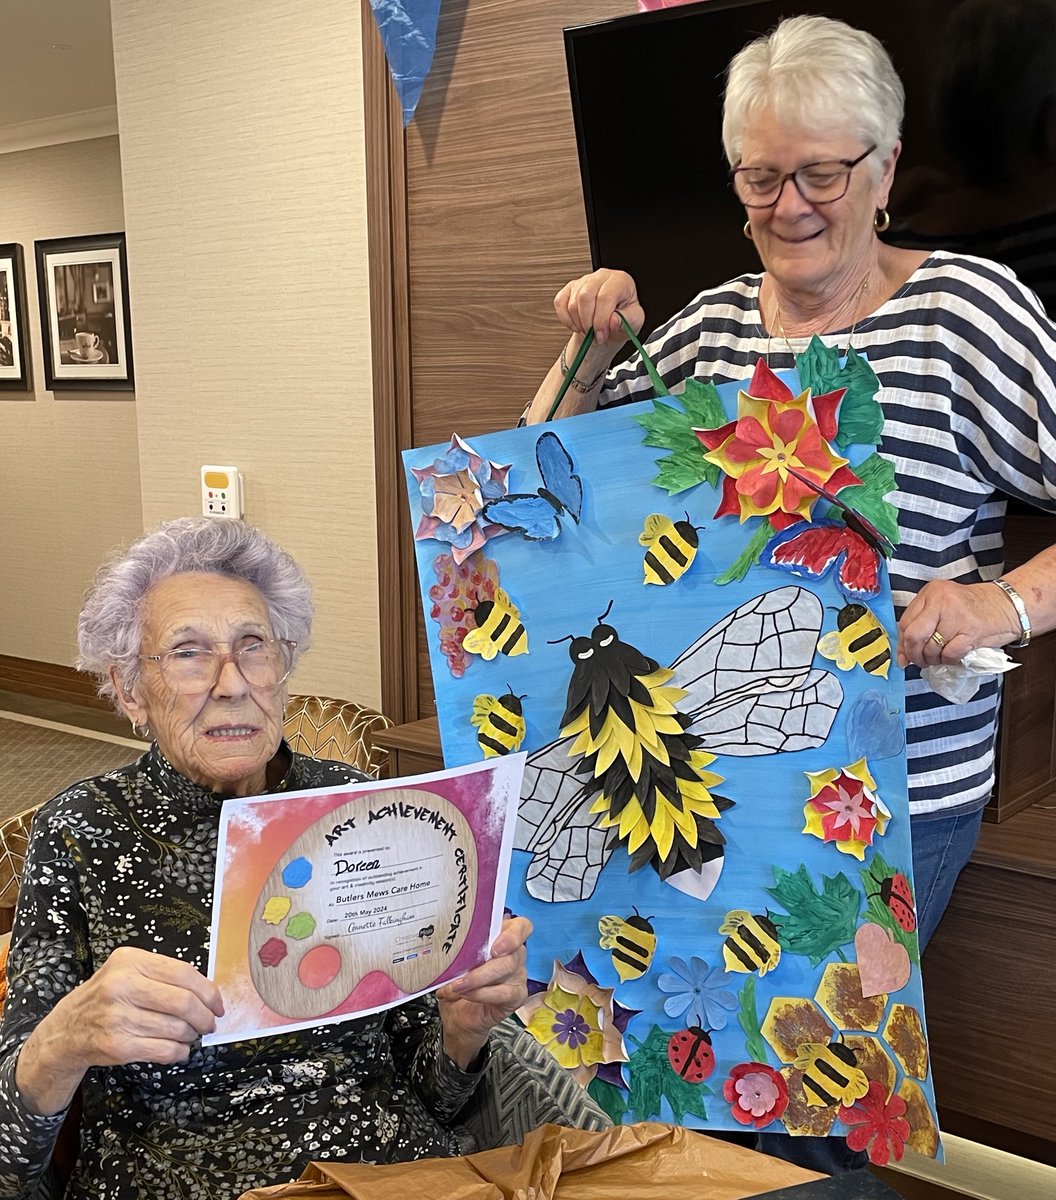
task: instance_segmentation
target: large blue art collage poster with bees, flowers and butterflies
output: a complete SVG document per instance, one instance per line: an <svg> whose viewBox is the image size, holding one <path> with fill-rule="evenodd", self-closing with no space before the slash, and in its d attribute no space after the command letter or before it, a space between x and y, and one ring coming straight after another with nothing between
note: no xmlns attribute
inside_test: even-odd
<svg viewBox="0 0 1056 1200"><path fill-rule="evenodd" d="M935 1157L876 378L661 389L404 451L445 762L528 751L517 1016L617 1121Z"/></svg>

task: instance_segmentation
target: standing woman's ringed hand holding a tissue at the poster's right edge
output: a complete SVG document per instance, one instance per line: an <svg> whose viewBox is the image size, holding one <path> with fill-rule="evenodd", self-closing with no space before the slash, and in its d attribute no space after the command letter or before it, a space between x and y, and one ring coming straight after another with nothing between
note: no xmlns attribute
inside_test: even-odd
<svg viewBox="0 0 1056 1200"><path fill-rule="evenodd" d="M910 601L899 622L898 662L922 667L960 662L980 646L1019 641L1009 599L992 583L931 580Z"/></svg>

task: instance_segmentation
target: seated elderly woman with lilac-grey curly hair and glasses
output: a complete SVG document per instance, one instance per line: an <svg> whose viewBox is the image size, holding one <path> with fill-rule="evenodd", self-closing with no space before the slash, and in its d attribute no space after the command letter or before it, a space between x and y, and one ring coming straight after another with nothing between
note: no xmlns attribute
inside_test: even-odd
<svg viewBox="0 0 1056 1200"><path fill-rule="evenodd" d="M224 799L365 778L282 739L311 618L300 568L241 522L173 521L100 574L80 666L154 743L36 818L0 1024L0 1195L32 1192L78 1088L70 1196L236 1196L311 1159L463 1148L490 1031L526 998L524 919L434 997L200 1043L223 1013L203 972Z"/></svg>

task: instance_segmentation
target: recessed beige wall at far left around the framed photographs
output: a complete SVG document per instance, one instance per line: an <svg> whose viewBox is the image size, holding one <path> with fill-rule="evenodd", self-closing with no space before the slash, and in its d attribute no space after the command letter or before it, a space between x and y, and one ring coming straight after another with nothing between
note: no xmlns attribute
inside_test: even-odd
<svg viewBox="0 0 1056 1200"><path fill-rule="evenodd" d="M136 402L44 390L34 241L124 228L116 138L0 155L0 242L25 254L35 390L0 392L0 654L68 666L107 551L139 533Z"/></svg>

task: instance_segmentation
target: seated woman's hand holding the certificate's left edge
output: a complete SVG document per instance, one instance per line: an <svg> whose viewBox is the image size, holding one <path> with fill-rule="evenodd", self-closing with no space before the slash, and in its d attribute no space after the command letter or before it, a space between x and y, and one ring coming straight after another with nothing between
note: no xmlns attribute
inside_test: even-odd
<svg viewBox="0 0 1056 1200"><path fill-rule="evenodd" d="M60 1112L90 1067L184 1062L221 1015L220 989L196 967L119 947L37 1025L16 1081L32 1111Z"/></svg>

